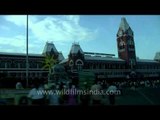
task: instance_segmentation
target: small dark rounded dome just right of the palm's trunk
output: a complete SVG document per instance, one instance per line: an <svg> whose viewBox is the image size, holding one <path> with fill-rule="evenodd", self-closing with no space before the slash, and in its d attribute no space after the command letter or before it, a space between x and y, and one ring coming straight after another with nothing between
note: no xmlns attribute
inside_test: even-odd
<svg viewBox="0 0 160 120"><path fill-rule="evenodd" d="M65 68L63 65L60 65L60 64L54 65L51 69L52 74L62 73L62 72L65 72Z"/></svg>

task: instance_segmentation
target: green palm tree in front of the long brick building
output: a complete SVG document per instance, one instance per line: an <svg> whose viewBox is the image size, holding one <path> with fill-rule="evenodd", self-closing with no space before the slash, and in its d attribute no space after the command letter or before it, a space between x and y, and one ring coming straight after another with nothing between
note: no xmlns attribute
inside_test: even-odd
<svg viewBox="0 0 160 120"><path fill-rule="evenodd" d="M49 71L49 74L48 74L48 80L49 80L51 75L51 68L57 64L57 59L55 59L54 56L46 55L43 64L44 64L43 69L46 69Z"/></svg>

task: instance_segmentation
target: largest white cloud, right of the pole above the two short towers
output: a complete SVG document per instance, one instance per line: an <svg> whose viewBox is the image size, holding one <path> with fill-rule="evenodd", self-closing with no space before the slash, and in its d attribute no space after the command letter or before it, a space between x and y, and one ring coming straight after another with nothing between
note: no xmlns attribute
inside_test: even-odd
<svg viewBox="0 0 160 120"><path fill-rule="evenodd" d="M79 16L46 17L30 23L33 34L43 41L81 41L94 39L97 31L82 27Z"/></svg>

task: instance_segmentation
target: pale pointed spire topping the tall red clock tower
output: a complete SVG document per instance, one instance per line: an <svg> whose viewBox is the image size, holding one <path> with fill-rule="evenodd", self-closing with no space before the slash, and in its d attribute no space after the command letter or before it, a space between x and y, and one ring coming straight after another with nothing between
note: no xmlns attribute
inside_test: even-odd
<svg viewBox="0 0 160 120"><path fill-rule="evenodd" d="M122 17L121 18L121 23L120 23L120 26L119 26L119 30L118 30L118 33L117 33L117 36L121 37L124 34L128 34L130 36L133 36L133 31L130 28L129 24L127 23L126 18Z"/></svg>

